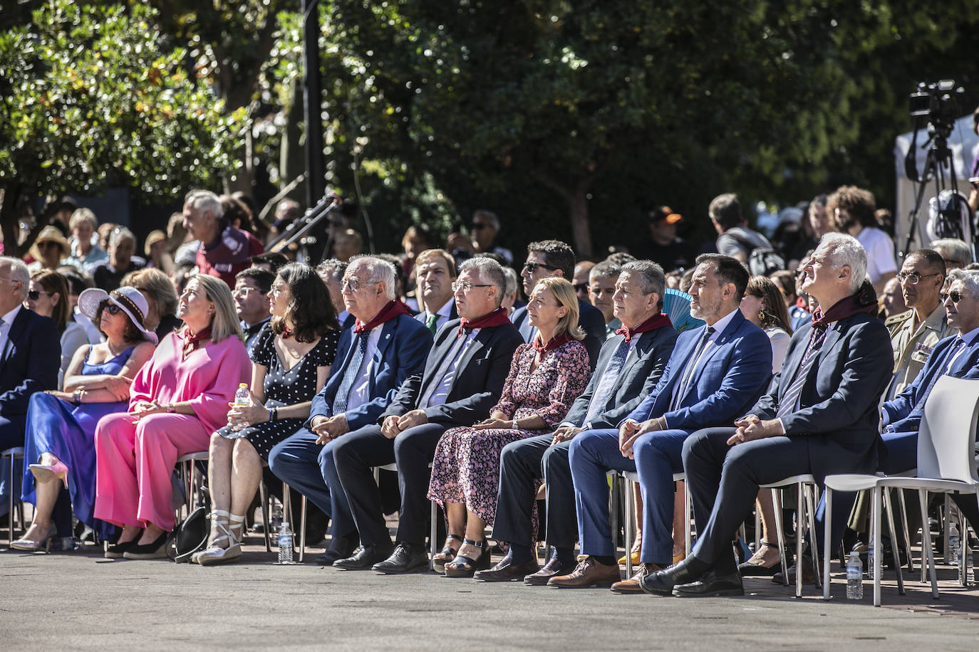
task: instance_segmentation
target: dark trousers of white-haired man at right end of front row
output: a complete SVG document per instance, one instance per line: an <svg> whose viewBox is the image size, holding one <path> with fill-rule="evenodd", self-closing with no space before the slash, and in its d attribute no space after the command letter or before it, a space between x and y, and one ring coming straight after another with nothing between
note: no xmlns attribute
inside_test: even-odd
<svg viewBox="0 0 979 652"><path fill-rule="evenodd" d="M759 486L812 473L809 446L803 437L770 437L727 446L734 432L734 428L705 428L690 435L683 445L683 468L699 534L692 554L715 566L718 575L737 572L731 541L751 512ZM843 537L856 497L833 492L830 536L834 546ZM820 546L825 544L822 530L820 500L816 510L816 541Z"/></svg>

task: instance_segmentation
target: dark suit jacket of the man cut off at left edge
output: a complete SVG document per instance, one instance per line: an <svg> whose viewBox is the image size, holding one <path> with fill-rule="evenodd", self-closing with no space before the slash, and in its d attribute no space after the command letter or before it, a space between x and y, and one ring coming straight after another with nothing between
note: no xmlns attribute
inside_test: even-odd
<svg viewBox="0 0 979 652"><path fill-rule="evenodd" d="M61 337L57 326L47 317L21 308L0 351L0 415L11 418L26 414L31 394L58 389L59 369Z"/></svg>

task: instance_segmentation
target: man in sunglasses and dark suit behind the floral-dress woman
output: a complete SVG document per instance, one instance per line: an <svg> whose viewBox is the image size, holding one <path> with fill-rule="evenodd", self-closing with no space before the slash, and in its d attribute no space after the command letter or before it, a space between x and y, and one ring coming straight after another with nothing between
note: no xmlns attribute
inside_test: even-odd
<svg viewBox="0 0 979 652"><path fill-rule="evenodd" d="M524 293L530 296L538 281L546 277L562 277L571 281L575 275L575 251L568 244L556 239L545 239L527 245L527 262L520 276L524 278ZM536 326L527 321L527 307L514 311L514 326L520 329L525 342L533 342ZM588 351L591 370L598 363L598 350L605 341L605 317L602 311L587 301L578 300L578 326L584 330L582 344Z"/></svg>

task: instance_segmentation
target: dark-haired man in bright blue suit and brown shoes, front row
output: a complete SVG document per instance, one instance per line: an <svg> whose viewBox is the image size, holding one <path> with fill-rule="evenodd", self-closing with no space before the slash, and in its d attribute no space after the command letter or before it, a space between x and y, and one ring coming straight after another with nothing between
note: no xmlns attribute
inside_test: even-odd
<svg viewBox="0 0 979 652"><path fill-rule="evenodd" d="M765 391L771 376L771 343L738 306L748 271L730 256L697 258L690 287L690 314L707 325L680 333L656 388L629 416L584 432L571 444L582 556L568 575L548 587L583 588L619 583L619 564L609 527L606 471L637 471L643 502L643 562L617 590L635 592L647 573L673 559L674 481L683 442L695 430L729 422Z"/></svg>

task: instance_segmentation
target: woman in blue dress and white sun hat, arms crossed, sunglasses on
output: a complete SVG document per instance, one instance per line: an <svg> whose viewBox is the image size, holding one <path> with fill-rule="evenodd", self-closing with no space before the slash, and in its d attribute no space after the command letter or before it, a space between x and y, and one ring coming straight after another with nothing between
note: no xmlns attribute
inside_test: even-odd
<svg viewBox="0 0 979 652"><path fill-rule="evenodd" d="M24 436L21 499L34 504L34 518L18 550L37 550L52 537L71 536L71 511L107 538L113 526L95 521L95 425L102 416L124 412L129 385L156 347L143 322L148 313L134 287L86 289L78 309L106 335L100 344L77 350L65 374L65 391L30 397Z"/></svg>

